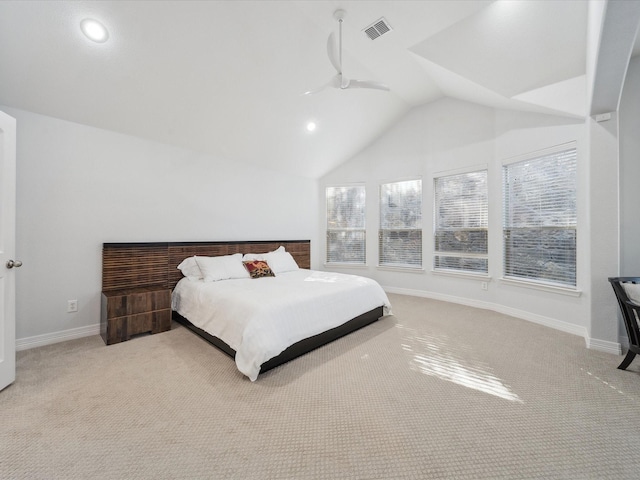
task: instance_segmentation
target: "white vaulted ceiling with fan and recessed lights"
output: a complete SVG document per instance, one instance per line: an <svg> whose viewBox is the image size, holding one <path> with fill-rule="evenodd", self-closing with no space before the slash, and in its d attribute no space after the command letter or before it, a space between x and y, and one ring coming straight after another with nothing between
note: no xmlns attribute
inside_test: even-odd
<svg viewBox="0 0 640 480"><path fill-rule="evenodd" d="M302 95L335 74L337 8L345 75L390 92ZM584 116L586 26L586 0L4 0L0 104L318 177L444 96Z"/></svg>

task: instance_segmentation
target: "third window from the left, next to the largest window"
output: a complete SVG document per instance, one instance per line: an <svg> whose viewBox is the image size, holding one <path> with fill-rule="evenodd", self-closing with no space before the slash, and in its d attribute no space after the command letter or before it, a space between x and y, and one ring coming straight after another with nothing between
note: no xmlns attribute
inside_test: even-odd
<svg viewBox="0 0 640 480"><path fill-rule="evenodd" d="M488 273L487 171L434 179L435 270Z"/></svg>

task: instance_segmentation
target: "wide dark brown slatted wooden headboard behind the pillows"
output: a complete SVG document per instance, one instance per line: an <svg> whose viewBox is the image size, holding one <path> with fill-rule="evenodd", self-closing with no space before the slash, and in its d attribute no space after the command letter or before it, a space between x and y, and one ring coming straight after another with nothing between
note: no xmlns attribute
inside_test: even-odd
<svg viewBox="0 0 640 480"><path fill-rule="evenodd" d="M157 285L173 289L182 278L177 267L187 257L266 253L280 245L300 268L311 267L310 240L103 243L102 291Z"/></svg>

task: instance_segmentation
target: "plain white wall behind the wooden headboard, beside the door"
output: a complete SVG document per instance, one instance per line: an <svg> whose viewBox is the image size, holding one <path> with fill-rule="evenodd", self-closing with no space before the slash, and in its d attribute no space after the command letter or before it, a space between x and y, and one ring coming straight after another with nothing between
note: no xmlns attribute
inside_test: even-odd
<svg viewBox="0 0 640 480"><path fill-rule="evenodd" d="M18 125L18 348L97 331L104 242L318 237L315 180L0 109Z"/></svg>

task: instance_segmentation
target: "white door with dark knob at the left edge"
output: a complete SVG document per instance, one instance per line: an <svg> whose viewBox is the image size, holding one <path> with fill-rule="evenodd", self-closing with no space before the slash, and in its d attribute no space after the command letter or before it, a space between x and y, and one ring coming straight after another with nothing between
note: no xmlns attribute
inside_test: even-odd
<svg viewBox="0 0 640 480"><path fill-rule="evenodd" d="M0 112L0 390L16 378L16 120Z"/></svg>

